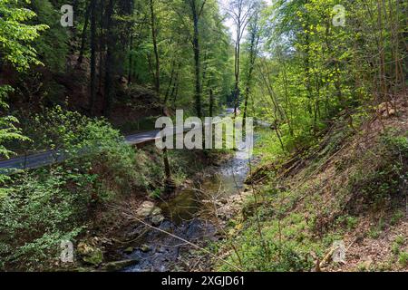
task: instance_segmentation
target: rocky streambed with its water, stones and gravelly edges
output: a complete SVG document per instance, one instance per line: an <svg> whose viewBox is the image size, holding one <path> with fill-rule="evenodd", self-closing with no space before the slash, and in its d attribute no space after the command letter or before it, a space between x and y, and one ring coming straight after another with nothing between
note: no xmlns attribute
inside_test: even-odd
<svg viewBox="0 0 408 290"><path fill-rule="evenodd" d="M147 225L140 222L132 227L133 241L122 255L134 263L122 271L208 270L200 266L206 265L209 256L197 247L222 238L221 229L244 199L248 170L245 152L237 151L234 158L208 172L201 182L180 189L174 198L142 203L136 216Z"/></svg>

